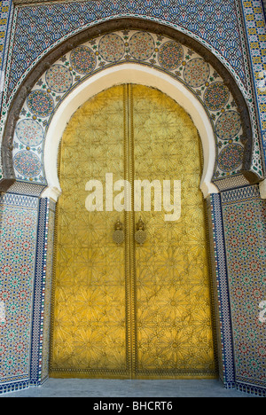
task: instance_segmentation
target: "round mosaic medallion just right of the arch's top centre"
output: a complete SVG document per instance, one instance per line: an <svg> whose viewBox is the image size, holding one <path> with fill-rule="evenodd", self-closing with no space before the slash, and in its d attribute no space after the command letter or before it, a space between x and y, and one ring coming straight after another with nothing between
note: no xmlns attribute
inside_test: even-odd
<svg viewBox="0 0 266 415"><path fill-rule="evenodd" d="M137 60L151 58L154 48L153 36L147 32L137 32L129 40L130 54Z"/></svg>

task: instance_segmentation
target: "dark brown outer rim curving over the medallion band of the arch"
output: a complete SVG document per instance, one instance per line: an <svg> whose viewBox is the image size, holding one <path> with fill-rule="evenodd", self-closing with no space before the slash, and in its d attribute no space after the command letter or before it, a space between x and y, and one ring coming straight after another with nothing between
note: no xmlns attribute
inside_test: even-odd
<svg viewBox="0 0 266 415"><path fill-rule="evenodd" d="M223 64L220 62L220 60L217 59L215 55L211 51L209 51L206 47L204 47L201 43L197 42L195 39L193 39L189 35L185 35L179 32L177 29L173 27L168 27L166 25L163 25L163 24L151 21L151 20L143 20L143 19L138 19L138 18L129 18L129 19L121 18L121 19L115 19L115 20L108 20L104 23L99 23L93 27L89 27L83 30L81 33L77 35L74 35L68 38L65 42L60 43L59 46L57 46L52 51L48 52L47 55L43 57L43 59L38 64L36 64L36 66L32 69L32 71L27 75L25 81L22 83L20 89L17 91L15 97L12 100L11 109L9 111L6 124L5 124L4 138L3 138L3 145L2 145L2 166L3 166L4 174L3 174L3 179L0 181L0 192L5 192L16 181L16 177L15 177L14 169L12 165L12 141L13 141L14 129L16 126L16 122L18 121L19 116L20 116L20 109L25 99L27 98L27 94L32 89L35 82L45 72L45 70L47 70L48 67L51 67L51 65L57 59L63 56L67 51L71 51L72 49L74 49L75 46L83 42L86 42L98 35L104 35L106 33L109 33L115 30L122 30L122 29L140 29L140 30L145 30L145 31L151 31L157 35L166 35L172 38L173 40L176 40L176 42L179 42L188 47L191 47L194 51L198 52L201 56L204 56L204 59L208 63L210 63L215 68L215 70L219 72L219 74L221 74L221 76L223 77L224 84L228 86L228 88L231 90L231 94L237 106L239 107L242 127L244 130L244 135L246 137L246 144L245 144L245 151L244 151L244 158L243 158L243 170L242 170L243 176L245 176L246 179L251 184L258 183L259 177L254 173L254 170L252 169L252 162L253 162L252 157L253 157L254 143L253 143L252 128L251 128L251 123L250 123L248 107L246 106L245 98L243 97L241 91L239 90L239 86L235 82L233 76L228 71L228 69L224 67ZM142 71L143 74L144 72L145 71ZM178 83L178 81L176 80L173 80L173 82L175 82L175 84ZM141 83L141 82L136 82L136 83ZM109 86L112 86L112 85L110 84ZM180 104L180 102L178 103ZM205 143L202 143L202 144L204 146ZM206 154L207 154L207 151L205 150L205 156ZM213 186L215 188L214 184ZM213 191L214 191L214 188L213 188Z"/></svg>

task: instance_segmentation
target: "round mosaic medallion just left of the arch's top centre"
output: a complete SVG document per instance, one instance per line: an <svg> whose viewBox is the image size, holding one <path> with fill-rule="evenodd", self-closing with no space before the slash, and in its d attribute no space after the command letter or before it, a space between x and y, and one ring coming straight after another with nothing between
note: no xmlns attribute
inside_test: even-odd
<svg viewBox="0 0 266 415"><path fill-rule="evenodd" d="M98 51L107 62L116 62L122 58L125 45L121 36L110 33L101 38L98 43Z"/></svg>

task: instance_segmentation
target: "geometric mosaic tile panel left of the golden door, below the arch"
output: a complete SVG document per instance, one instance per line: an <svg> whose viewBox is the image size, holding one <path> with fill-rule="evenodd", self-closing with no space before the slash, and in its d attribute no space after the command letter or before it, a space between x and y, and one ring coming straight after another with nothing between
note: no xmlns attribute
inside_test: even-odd
<svg viewBox="0 0 266 415"><path fill-rule="evenodd" d="M0 323L1 384L23 384L29 376L37 207L34 197L0 197L0 301L5 309Z"/></svg>

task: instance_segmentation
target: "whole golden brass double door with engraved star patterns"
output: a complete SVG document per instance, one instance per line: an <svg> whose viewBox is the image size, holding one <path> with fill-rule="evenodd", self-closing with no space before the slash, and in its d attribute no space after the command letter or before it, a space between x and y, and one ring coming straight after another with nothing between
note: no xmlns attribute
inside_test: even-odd
<svg viewBox="0 0 266 415"><path fill-rule="evenodd" d="M129 182L127 210L106 203L106 173ZM51 376L215 377L200 173L192 119L159 90L116 86L73 115L59 157ZM95 211L85 205L91 179L104 184ZM136 180L179 180L180 218L154 210L154 194L150 210L134 211Z"/></svg>

